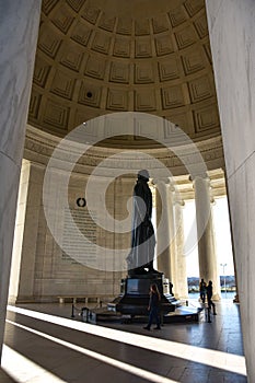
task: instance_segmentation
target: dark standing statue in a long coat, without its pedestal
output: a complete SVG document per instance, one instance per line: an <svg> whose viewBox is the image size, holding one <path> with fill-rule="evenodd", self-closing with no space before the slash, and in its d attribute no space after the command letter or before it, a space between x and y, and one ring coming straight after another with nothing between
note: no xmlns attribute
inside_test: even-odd
<svg viewBox="0 0 255 383"><path fill-rule="evenodd" d="M130 276L159 272L153 268L155 235L151 222L152 194L148 181L148 171L140 171L134 188L131 251L127 256L128 274Z"/></svg>

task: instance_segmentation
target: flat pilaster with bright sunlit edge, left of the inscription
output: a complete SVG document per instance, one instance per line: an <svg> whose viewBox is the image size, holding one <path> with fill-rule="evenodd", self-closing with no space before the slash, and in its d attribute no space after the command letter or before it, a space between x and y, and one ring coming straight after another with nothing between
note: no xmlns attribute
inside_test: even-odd
<svg viewBox="0 0 255 383"><path fill-rule="evenodd" d="M44 173L44 166L23 160L12 251L10 303L33 302L36 297L35 266Z"/></svg>

